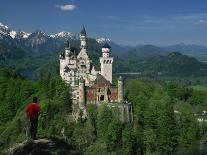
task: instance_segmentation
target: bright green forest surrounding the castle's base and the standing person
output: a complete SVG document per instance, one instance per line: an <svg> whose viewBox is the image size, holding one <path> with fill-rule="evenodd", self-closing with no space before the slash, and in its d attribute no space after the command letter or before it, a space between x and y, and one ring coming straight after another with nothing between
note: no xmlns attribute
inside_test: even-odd
<svg viewBox="0 0 207 155"><path fill-rule="evenodd" d="M116 80L114 80L116 81ZM114 82L116 83L116 82ZM207 91L179 82L145 78L124 81L133 120L121 123L105 104L87 105L87 119L71 118L70 87L59 76L30 81L0 67L0 152L27 139L25 108L41 106L38 138L64 141L79 154L206 154ZM67 154L57 150L57 154Z"/></svg>

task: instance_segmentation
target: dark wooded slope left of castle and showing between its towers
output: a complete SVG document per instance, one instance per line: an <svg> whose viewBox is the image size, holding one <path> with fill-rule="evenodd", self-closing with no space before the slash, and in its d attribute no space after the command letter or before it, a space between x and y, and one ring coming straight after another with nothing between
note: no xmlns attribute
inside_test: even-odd
<svg viewBox="0 0 207 155"><path fill-rule="evenodd" d="M72 40L73 49L79 51L79 40ZM5 41L0 41L0 64L15 68L18 73L29 79L40 79L48 74L59 74L59 54L63 52L64 45L58 50L47 54L32 54L25 52L21 48L9 45ZM95 39L88 39L89 56L96 67L99 66L101 56L101 45Z"/></svg>

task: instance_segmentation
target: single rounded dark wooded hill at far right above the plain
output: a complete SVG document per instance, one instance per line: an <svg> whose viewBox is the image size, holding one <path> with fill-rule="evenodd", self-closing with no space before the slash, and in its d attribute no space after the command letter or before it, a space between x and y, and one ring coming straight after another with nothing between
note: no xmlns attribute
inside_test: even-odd
<svg viewBox="0 0 207 155"><path fill-rule="evenodd" d="M150 71L168 76L207 75L207 64L178 52L172 52L167 56L150 58L143 68L145 72Z"/></svg>

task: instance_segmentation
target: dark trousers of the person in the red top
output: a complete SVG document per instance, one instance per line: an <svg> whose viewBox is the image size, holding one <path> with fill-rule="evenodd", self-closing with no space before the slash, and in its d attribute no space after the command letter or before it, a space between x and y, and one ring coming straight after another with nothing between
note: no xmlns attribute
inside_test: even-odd
<svg viewBox="0 0 207 155"><path fill-rule="evenodd" d="M38 127L38 116L30 117L30 136L33 140L36 139Z"/></svg>

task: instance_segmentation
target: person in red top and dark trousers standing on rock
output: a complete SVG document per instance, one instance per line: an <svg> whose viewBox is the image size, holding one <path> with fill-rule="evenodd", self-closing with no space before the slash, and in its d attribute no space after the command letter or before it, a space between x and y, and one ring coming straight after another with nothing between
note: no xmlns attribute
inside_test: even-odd
<svg viewBox="0 0 207 155"><path fill-rule="evenodd" d="M30 136L33 140L36 140L38 116L40 114L40 106L37 103L37 97L33 97L32 103L27 106L26 114L30 119Z"/></svg>

